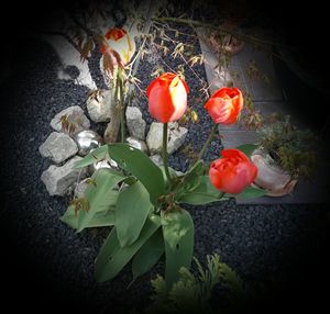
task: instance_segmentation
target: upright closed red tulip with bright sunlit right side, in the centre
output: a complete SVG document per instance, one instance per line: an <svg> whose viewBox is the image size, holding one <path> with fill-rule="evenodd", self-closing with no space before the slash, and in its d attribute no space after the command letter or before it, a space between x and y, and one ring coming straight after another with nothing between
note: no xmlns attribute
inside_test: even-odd
<svg viewBox="0 0 330 314"><path fill-rule="evenodd" d="M187 109L188 92L188 86L177 75L161 75L146 89L150 114L163 123L179 120Z"/></svg>

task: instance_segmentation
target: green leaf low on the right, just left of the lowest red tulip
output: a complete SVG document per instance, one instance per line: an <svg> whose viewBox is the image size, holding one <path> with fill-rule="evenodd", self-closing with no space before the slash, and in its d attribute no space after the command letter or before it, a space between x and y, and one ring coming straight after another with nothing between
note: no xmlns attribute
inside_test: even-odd
<svg viewBox="0 0 330 314"><path fill-rule="evenodd" d="M209 176L200 176L199 184L193 191L184 191L178 195L178 203L186 203L191 205L202 205L211 202L223 201L224 193L217 190Z"/></svg>

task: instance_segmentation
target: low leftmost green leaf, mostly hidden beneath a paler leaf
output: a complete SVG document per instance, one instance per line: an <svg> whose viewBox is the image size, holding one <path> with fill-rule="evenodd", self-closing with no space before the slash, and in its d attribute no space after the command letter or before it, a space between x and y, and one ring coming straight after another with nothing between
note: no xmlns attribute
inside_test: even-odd
<svg viewBox="0 0 330 314"><path fill-rule="evenodd" d="M78 215L75 215L74 206L69 206L59 220L74 229L78 228ZM114 225L114 206L111 206L108 211L96 213L86 227L106 227L112 225Z"/></svg>

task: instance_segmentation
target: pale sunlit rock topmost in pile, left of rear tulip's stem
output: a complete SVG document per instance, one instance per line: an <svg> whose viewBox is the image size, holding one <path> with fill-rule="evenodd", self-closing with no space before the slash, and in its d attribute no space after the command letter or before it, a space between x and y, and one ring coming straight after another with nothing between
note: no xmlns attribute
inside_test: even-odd
<svg viewBox="0 0 330 314"><path fill-rule="evenodd" d="M87 99L87 110L94 122L109 122L111 119L112 92L97 90Z"/></svg>

